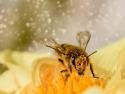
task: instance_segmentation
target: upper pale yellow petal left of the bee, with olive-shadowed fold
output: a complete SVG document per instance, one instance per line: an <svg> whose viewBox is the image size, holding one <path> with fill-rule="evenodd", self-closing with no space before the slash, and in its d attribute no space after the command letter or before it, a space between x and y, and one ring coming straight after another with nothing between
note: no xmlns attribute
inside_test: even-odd
<svg viewBox="0 0 125 94"><path fill-rule="evenodd" d="M12 51L4 50L0 53L0 62L1 63L14 63L17 64L28 71L31 71L31 64L37 58L49 57L50 53L34 53L34 52L21 52L21 51Z"/></svg>

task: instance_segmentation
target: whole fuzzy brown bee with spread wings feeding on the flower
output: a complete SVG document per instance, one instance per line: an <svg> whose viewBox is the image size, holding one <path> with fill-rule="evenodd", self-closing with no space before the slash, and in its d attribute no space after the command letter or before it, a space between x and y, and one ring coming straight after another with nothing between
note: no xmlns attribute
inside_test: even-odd
<svg viewBox="0 0 125 94"><path fill-rule="evenodd" d="M89 31L81 31L77 33L77 40L79 46L71 44L58 44L53 38L40 38L36 41L54 49L56 56L58 57L59 62L63 65L64 69L61 70L61 73L65 73L65 79L67 79L70 74L75 70L78 75L84 75L86 67L89 66L93 77L95 76L92 64L90 63L89 56L86 53L87 44L91 38Z"/></svg>

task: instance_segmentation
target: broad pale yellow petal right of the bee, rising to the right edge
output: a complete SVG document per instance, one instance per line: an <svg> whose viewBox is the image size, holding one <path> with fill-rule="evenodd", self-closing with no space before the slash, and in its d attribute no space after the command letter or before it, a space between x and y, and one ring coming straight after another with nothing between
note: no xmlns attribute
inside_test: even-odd
<svg viewBox="0 0 125 94"><path fill-rule="evenodd" d="M125 39L121 39L97 50L97 53L90 56L94 70L96 70L99 77L110 78L113 75L117 57L124 46Z"/></svg>

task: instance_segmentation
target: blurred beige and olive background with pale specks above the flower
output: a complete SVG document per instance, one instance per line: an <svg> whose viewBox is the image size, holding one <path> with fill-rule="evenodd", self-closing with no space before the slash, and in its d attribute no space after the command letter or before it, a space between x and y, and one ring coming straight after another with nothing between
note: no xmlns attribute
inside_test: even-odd
<svg viewBox="0 0 125 94"><path fill-rule="evenodd" d="M48 51L35 42L53 37L78 45L79 31L91 32L88 52L125 36L124 0L0 0L0 51Z"/></svg>

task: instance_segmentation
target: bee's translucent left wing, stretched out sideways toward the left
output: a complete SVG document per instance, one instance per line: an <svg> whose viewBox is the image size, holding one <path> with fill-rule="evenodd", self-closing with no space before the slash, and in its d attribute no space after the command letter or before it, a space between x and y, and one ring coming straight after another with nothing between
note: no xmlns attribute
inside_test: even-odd
<svg viewBox="0 0 125 94"><path fill-rule="evenodd" d="M63 51L62 47L53 38L50 38L50 37L48 37L48 38L39 38L39 39L36 39L36 41L38 43L42 44L42 45L50 47L50 48L64 54L64 51Z"/></svg>

